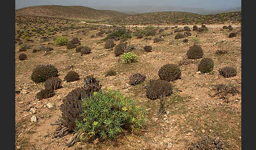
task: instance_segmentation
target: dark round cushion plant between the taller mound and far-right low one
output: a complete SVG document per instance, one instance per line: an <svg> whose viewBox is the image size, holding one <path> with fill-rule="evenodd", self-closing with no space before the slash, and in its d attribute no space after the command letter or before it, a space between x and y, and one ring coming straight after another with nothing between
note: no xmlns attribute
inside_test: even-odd
<svg viewBox="0 0 256 150"><path fill-rule="evenodd" d="M214 62L211 58L203 58L198 65L198 71L202 73L210 72L213 70Z"/></svg>

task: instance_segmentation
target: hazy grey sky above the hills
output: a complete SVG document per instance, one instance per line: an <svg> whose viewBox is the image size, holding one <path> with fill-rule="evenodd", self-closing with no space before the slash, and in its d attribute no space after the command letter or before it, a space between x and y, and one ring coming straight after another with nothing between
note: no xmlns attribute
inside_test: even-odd
<svg viewBox="0 0 256 150"><path fill-rule="evenodd" d="M229 9L241 7L241 0L15 0L15 9L36 5L64 5L64 6L86 6L86 7L103 7L103 6L176 6L176 7L193 7L204 8L209 10Z"/></svg>

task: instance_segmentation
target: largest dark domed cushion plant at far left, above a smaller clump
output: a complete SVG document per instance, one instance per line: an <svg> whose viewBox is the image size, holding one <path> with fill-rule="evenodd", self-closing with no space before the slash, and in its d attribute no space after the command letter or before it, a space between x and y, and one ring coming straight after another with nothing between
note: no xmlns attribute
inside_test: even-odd
<svg viewBox="0 0 256 150"><path fill-rule="evenodd" d="M44 82L52 77L57 77L58 70L53 65L38 65L31 74L31 80L35 83Z"/></svg>

